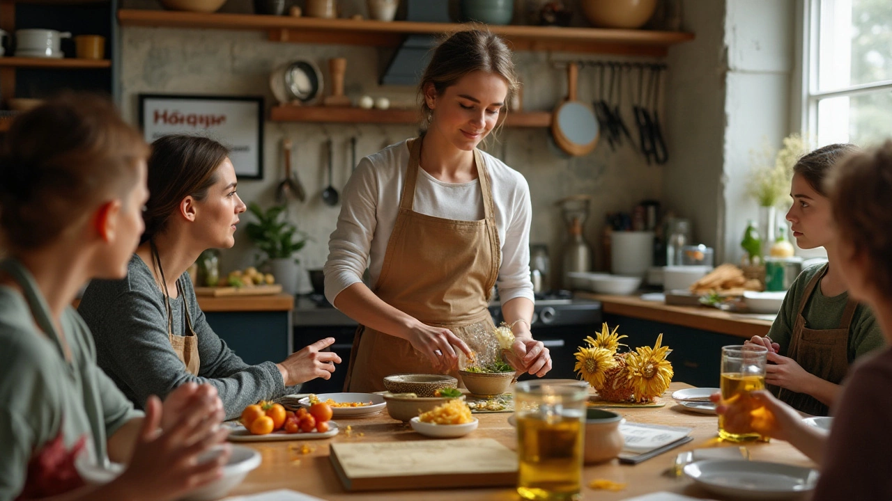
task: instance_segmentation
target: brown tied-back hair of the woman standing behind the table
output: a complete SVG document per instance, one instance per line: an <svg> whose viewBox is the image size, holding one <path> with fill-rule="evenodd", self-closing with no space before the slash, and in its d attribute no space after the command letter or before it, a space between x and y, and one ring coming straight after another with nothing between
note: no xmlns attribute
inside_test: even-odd
<svg viewBox="0 0 892 501"><path fill-rule="evenodd" d="M447 87L455 85L460 78L477 70L505 78L508 82L505 103L511 102L511 96L517 92L520 84L517 81L514 61L511 60L511 49L505 41L485 29L457 31L437 45L431 62L427 64L425 74L418 84L425 127L431 124L433 114L425 101L425 88L429 84L434 84L437 95L441 95Z"/></svg>

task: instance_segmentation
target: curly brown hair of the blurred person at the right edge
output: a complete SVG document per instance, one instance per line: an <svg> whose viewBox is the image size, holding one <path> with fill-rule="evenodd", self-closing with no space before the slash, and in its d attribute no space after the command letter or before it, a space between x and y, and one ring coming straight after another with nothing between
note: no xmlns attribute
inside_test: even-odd
<svg viewBox="0 0 892 501"><path fill-rule="evenodd" d="M892 298L892 140L839 162L826 190L839 237L867 258L868 280Z"/></svg>

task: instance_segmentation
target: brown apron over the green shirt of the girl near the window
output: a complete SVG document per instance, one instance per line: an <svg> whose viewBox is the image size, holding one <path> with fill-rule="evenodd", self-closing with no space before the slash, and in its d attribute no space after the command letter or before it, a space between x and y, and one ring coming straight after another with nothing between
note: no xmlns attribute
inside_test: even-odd
<svg viewBox="0 0 892 501"><path fill-rule="evenodd" d="M848 336L852 317L858 303L849 298L839 327L836 329L809 329L805 326L805 304L812 297L814 288L817 287L823 275L827 274L827 266L821 273L814 275L811 282L805 286L803 300L799 303L796 324L793 326L793 334L789 341L787 357L796 360L805 371L820 377L822 380L839 384L848 372ZM830 409L817 398L806 393L797 393L778 387L771 387L772 392L778 398L787 402L791 407L810 415L828 415Z"/></svg>

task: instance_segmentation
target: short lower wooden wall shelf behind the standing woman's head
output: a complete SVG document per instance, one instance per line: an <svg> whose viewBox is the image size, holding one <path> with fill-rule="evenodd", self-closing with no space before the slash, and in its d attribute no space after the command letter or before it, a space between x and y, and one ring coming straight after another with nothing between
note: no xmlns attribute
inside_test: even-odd
<svg viewBox="0 0 892 501"><path fill-rule="evenodd" d="M274 106L269 113L274 122L417 124L420 115L415 110L363 110L336 106ZM509 112L505 127L549 127L548 111Z"/></svg>

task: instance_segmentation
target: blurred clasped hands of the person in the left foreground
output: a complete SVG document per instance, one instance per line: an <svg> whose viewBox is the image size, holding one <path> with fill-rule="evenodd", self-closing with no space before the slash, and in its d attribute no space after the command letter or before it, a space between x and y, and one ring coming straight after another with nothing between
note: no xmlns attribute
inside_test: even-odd
<svg viewBox="0 0 892 501"><path fill-rule="evenodd" d="M122 498L172 500L218 479L230 454L223 418L210 385L184 384L163 406L149 397L128 468L107 487ZM199 463L198 456L219 444L217 456Z"/></svg>

